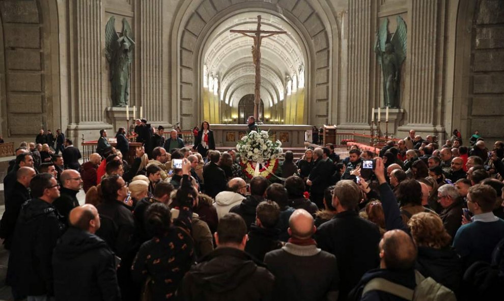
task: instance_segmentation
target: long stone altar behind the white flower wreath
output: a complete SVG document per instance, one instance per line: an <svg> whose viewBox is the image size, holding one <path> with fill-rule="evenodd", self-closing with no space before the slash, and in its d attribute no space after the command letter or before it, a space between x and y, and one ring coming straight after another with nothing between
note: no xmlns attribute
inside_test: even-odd
<svg viewBox="0 0 504 301"><path fill-rule="evenodd" d="M269 131L272 140L279 140L283 147L304 147L304 141L311 141L313 126L311 125L284 125L262 124L261 130ZM236 147L238 140L247 133L246 124L212 124L215 146Z"/></svg>

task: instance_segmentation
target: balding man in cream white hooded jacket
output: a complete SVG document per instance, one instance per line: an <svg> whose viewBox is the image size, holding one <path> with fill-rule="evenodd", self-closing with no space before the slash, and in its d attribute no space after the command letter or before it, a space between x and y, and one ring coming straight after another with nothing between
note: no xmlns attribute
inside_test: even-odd
<svg viewBox="0 0 504 301"><path fill-rule="evenodd" d="M245 199L245 195L249 192L249 186L242 178L233 178L228 181L228 191L221 191L215 196L213 205L217 209L217 217L220 218L233 208L233 206L241 204Z"/></svg>

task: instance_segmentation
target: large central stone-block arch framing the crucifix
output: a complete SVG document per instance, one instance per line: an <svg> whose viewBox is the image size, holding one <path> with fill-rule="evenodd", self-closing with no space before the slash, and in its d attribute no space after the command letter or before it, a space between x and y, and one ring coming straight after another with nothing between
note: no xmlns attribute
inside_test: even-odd
<svg viewBox="0 0 504 301"><path fill-rule="evenodd" d="M200 87L202 86L201 73L203 70L202 45L212 28L218 22L228 19L240 10L254 9L265 12L289 22L302 38L306 49L304 68L306 98L311 99L311 105L306 106L305 122L323 123L330 115L330 85L332 77L337 77L333 72L333 64L337 64L337 57L333 53L338 51L338 45L333 45L332 31L338 31L329 26L327 13L321 9L317 0L279 0L279 1L246 1L243 0L203 0L182 4L178 11L173 26L172 45L173 62L177 62L177 76L172 78L173 96L180 99L178 112L183 125L188 126L198 122L201 111L198 108ZM297 68L297 67L296 67ZM334 73L334 74L333 74ZM284 76L283 76L284 77ZM332 87L333 86L333 87ZM316 104L316 105L315 105ZM312 107L318 107L313 108ZM187 124L186 124L187 123Z"/></svg>

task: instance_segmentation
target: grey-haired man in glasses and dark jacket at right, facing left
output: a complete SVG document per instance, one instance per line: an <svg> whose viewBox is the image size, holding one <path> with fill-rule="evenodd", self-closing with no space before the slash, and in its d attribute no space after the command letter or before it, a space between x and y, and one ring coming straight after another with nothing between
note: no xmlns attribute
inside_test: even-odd
<svg viewBox="0 0 504 301"><path fill-rule="evenodd" d="M464 207L464 203L459 196L457 187L451 184L444 184L439 187L437 198L437 202L443 207L439 217L441 217L444 228L453 239L457 230L462 225L462 215L464 214L462 208Z"/></svg>

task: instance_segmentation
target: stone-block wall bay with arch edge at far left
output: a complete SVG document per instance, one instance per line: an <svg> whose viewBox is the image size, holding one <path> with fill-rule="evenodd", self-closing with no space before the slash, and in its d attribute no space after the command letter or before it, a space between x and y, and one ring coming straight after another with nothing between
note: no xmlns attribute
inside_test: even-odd
<svg viewBox="0 0 504 301"><path fill-rule="evenodd" d="M0 3L2 134L33 139L61 126L56 0Z"/></svg>

